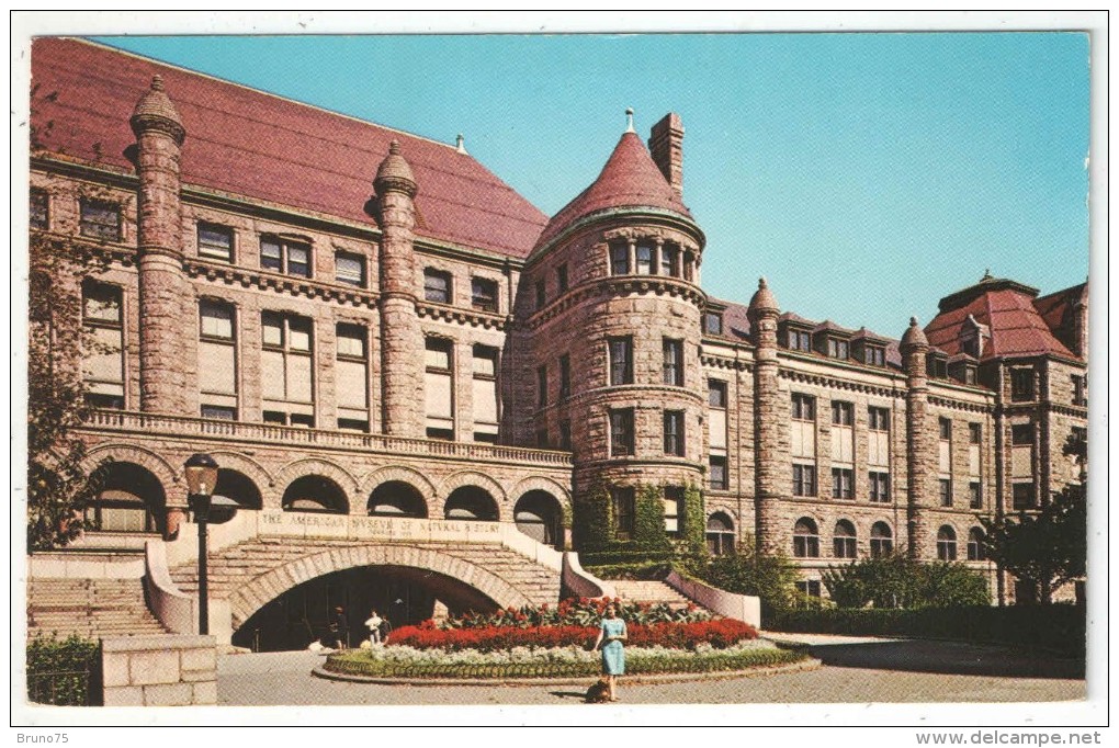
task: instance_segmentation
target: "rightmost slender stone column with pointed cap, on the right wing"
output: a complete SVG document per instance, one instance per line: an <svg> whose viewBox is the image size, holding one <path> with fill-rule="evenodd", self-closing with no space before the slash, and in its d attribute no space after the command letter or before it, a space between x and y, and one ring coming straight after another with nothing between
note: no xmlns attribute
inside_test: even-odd
<svg viewBox="0 0 1119 748"><path fill-rule="evenodd" d="M905 369L905 446L908 472L909 555L915 559L935 558L934 529L929 524L932 505L932 479L937 454L929 422L929 375L925 356L929 340L916 318L902 335L902 366Z"/></svg>

